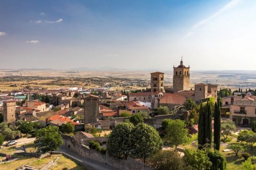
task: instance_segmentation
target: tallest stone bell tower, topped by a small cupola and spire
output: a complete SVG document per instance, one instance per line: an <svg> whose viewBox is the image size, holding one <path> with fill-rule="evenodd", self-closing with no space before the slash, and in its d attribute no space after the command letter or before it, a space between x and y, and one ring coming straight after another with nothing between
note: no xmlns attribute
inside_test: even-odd
<svg viewBox="0 0 256 170"><path fill-rule="evenodd" d="M182 91L182 90L190 90L190 72L189 66L186 67L183 65L183 61L181 59L180 65L178 67L174 66L174 77L173 77L173 91Z"/></svg>

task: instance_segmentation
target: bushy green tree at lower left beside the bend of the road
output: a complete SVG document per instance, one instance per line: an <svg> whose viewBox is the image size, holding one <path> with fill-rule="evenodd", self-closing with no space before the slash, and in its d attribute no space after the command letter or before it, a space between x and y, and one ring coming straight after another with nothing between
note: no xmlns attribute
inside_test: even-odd
<svg viewBox="0 0 256 170"><path fill-rule="evenodd" d="M61 144L62 137L58 133L58 127L48 126L36 131L35 145L38 147L38 152L58 150Z"/></svg>

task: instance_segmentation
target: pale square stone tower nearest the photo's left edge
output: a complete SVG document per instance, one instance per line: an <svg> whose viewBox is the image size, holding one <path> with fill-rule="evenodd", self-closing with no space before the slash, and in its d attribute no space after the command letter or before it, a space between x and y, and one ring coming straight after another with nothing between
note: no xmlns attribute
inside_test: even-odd
<svg viewBox="0 0 256 170"><path fill-rule="evenodd" d="M4 103L4 122L11 123L16 121L16 101L5 101Z"/></svg>

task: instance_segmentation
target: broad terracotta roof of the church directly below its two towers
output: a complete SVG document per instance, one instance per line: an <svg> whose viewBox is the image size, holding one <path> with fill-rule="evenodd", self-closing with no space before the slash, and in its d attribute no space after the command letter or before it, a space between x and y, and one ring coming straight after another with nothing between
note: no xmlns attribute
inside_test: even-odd
<svg viewBox="0 0 256 170"><path fill-rule="evenodd" d="M160 104L176 104L182 105L186 98L180 94L165 95L160 99Z"/></svg>

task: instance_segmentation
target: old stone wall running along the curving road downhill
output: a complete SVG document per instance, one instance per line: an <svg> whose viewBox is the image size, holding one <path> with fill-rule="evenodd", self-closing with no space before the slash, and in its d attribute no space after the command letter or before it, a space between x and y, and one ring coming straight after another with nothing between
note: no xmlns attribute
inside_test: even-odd
<svg viewBox="0 0 256 170"><path fill-rule="evenodd" d="M84 158L92 159L104 164L109 164L113 167L123 169L123 170L153 170L154 168L147 166L146 164L139 162L133 158L124 159L116 159L110 157L106 154L101 154L96 150L89 149L86 145L79 144L75 142L72 137L63 137L63 146L71 149L74 152L77 152Z"/></svg>

